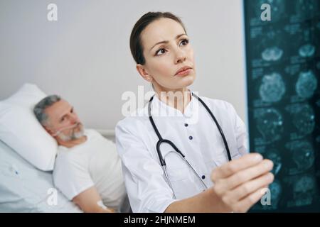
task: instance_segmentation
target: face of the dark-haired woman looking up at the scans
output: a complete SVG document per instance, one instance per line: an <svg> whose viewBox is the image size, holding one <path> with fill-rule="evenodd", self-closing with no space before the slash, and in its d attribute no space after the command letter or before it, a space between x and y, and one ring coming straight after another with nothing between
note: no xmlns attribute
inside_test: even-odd
<svg viewBox="0 0 320 227"><path fill-rule="evenodd" d="M144 65L139 73L161 91L183 89L196 78L193 49L180 23L161 18L150 23L141 34Z"/></svg>

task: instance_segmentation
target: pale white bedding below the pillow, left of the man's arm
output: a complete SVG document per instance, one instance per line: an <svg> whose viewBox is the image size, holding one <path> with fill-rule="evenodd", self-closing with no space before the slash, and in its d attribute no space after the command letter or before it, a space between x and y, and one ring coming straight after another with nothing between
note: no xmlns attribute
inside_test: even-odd
<svg viewBox="0 0 320 227"><path fill-rule="evenodd" d="M82 212L38 170L0 140L0 212Z"/></svg>

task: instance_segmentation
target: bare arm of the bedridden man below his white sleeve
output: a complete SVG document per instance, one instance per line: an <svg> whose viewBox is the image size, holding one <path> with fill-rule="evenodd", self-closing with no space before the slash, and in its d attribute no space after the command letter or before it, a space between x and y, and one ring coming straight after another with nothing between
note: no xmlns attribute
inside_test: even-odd
<svg viewBox="0 0 320 227"><path fill-rule="evenodd" d="M80 206L85 213L113 213L112 209L103 207L101 197L95 187L90 187L73 198L73 202Z"/></svg>

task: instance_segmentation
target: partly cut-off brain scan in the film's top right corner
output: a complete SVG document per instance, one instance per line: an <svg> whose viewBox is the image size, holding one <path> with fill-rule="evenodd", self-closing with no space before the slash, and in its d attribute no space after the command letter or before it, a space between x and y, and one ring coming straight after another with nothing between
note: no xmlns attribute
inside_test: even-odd
<svg viewBox="0 0 320 227"><path fill-rule="evenodd" d="M318 10L318 0L297 0L296 12L302 20L309 19L316 15Z"/></svg>

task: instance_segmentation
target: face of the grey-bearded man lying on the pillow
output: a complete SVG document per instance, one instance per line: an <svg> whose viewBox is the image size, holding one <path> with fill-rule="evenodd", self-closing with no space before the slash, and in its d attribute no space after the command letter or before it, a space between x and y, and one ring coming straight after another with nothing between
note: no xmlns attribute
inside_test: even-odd
<svg viewBox="0 0 320 227"><path fill-rule="evenodd" d="M46 108L46 130L57 140L70 141L83 135L83 126L78 115L67 101L61 99Z"/></svg>

